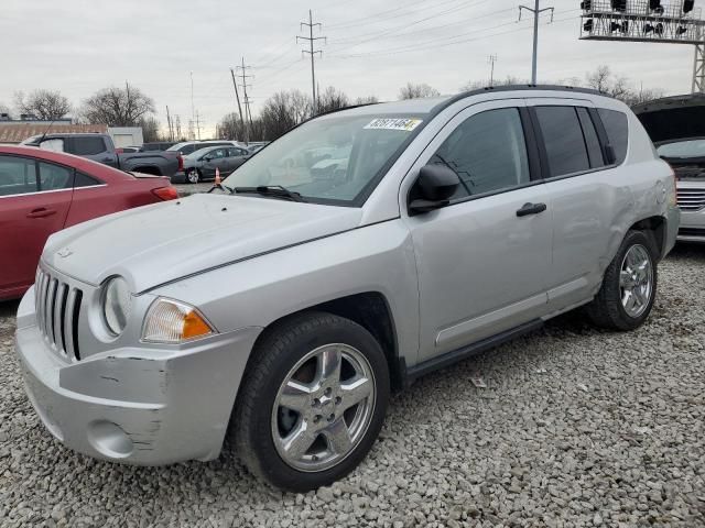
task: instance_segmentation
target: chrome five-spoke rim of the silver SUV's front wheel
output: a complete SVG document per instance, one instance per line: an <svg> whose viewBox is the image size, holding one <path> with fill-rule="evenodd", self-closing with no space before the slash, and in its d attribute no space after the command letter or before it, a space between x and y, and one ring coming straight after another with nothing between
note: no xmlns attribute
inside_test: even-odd
<svg viewBox="0 0 705 528"><path fill-rule="evenodd" d="M358 446L372 419L375 376L357 349L332 343L289 371L272 408L272 438L282 460L300 471L327 470Z"/></svg>

